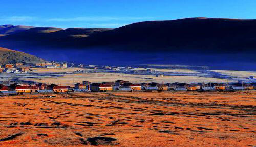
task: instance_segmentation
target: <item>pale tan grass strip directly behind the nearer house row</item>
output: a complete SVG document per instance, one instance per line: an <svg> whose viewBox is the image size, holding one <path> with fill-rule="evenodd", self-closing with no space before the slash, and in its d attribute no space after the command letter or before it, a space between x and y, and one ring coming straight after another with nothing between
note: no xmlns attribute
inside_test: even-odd
<svg viewBox="0 0 256 147"><path fill-rule="evenodd" d="M174 83L174 82L185 82L185 83L198 83L198 82L234 82L233 80L225 80L218 78L199 77L199 76L164 76L156 77L155 75L133 75L133 74L122 74L122 73L84 73L84 74L62 74L61 77L51 78L19 78L24 81L34 81L42 83L54 83L67 86L74 86L77 82L88 80L94 82L111 82L115 80L127 80L132 83L143 83L143 82L157 82L157 83Z"/></svg>

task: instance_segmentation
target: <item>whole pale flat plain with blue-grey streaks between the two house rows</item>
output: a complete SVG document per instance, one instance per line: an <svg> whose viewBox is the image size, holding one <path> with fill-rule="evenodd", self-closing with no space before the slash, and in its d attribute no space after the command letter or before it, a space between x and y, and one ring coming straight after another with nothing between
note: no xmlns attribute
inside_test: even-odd
<svg viewBox="0 0 256 147"><path fill-rule="evenodd" d="M77 70L86 70L91 71L92 73L72 73ZM216 83L231 83L237 82L240 78L245 78L248 76L256 76L255 72L250 71L200 71L200 70L188 70L188 69L156 69L153 73L162 72L165 73L164 77L156 77L155 74L134 74L133 72L122 72L94 69L85 69L85 68L32 68L30 71L31 75L24 77L12 77L12 79L18 79L21 81L32 81L32 82L42 82L47 84L60 84L67 86L74 86L75 83L82 82L84 80L94 82L112 82L115 80L125 80L132 83L174 83L174 82L184 82L184 83L198 83L198 82L216 82ZM132 71L146 71L144 68L135 68ZM211 73L214 72L214 73ZM46 77L40 77L35 74L44 74ZM223 74L229 78L217 77L215 74ZM53 76L57 75L57 76ZM232 76L232 77L230 77ZM36 77L36 78L35 78ZM10 78L11 79L11 78Z"/></svg>

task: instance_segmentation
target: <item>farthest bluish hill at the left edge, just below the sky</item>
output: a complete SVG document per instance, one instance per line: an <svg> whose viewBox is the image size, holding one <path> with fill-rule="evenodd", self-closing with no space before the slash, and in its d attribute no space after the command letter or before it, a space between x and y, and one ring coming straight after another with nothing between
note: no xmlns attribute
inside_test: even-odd
<svg viewBox="0 0 256 147"><path fill-rule="evenodd" d="M0 35L9 35L9 34L13 34L13 33L18 33L18 32L22 32L25 30L28 30L30 28L34 28L33 26L22 26L22 25L0 25Z"/></svg>

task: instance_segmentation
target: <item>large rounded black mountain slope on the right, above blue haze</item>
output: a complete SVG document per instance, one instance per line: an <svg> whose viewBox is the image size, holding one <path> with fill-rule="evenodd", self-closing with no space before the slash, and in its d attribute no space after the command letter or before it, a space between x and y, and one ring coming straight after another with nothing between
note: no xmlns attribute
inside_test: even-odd
<svg viewBox="0 0 256 147"><path fill-rule="evenodd" d="M253 51L256 20L187 18L126 25L84 38L82 45L110 45L129 50L208 52Z"/></svg>

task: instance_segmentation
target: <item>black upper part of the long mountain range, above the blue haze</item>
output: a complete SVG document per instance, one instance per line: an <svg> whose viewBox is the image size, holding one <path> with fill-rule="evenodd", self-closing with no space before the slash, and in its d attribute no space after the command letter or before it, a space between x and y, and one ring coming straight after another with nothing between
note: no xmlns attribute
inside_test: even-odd
<svg viewBox="0 0 256 147"><path fill-rule="evenodd" d="M129 51L155 51L157 48L175 52L240 52L255 51L255 26L256 20L186 18L139 22L113 30L36 27L0 39L29 42L39 40L45 45L57 41L59 46L108 46ZM35 45L40 43L36 42Z"/></svg>

